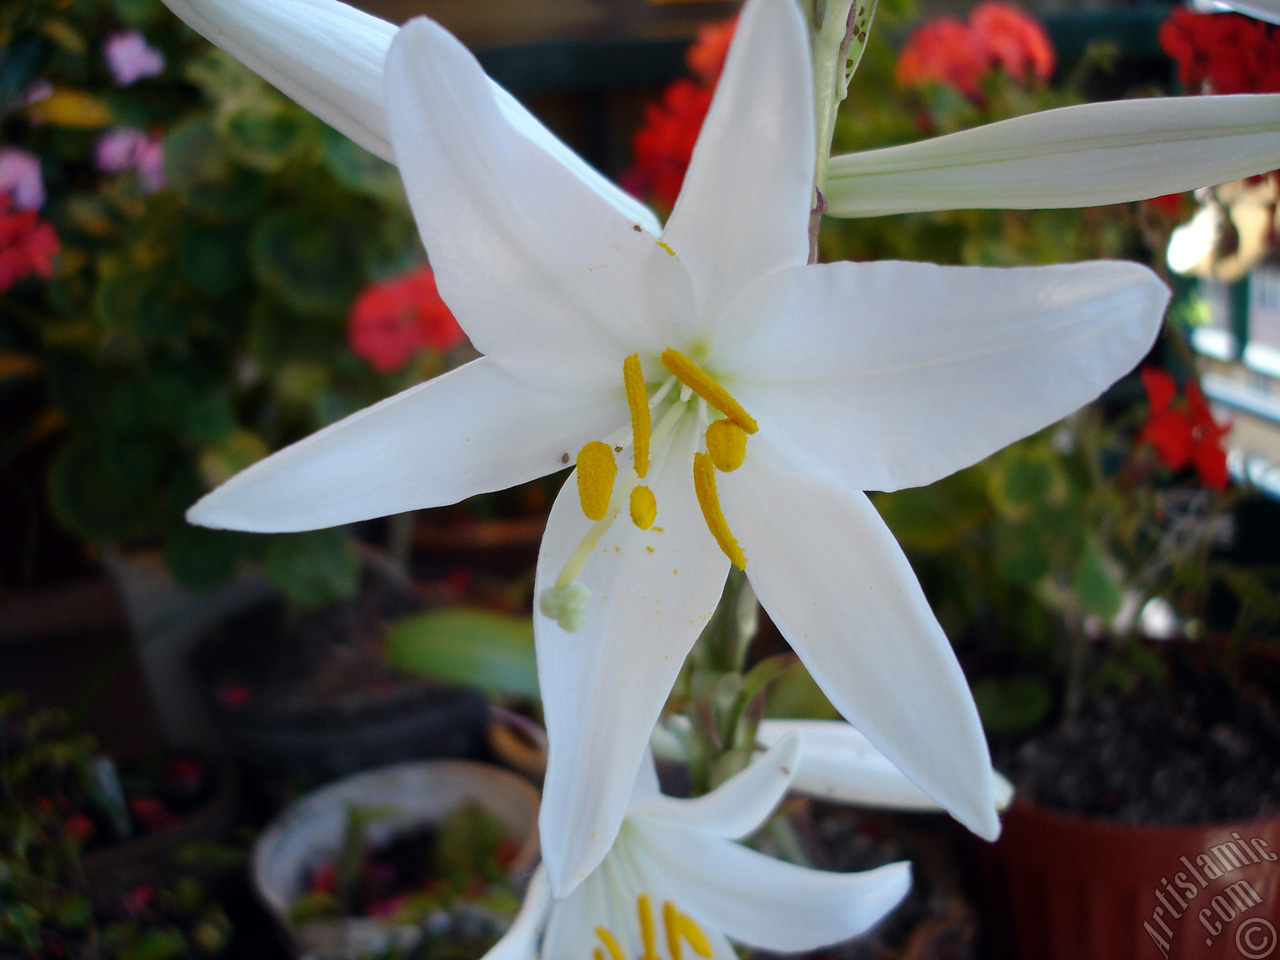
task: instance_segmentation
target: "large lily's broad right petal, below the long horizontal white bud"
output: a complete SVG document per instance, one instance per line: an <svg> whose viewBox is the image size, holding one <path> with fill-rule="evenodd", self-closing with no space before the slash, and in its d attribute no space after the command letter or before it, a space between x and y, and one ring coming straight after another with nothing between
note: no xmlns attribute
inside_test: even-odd
<svg viewBox="0 0 1280 960"><path fill-rule="evenodd" d="M751 443L861 490L895 490L1096 398L1149 349L1169 291L1119 261L879 261L778 271L751 298L777 302L776 323L717 357L760 424Z"/></svg>

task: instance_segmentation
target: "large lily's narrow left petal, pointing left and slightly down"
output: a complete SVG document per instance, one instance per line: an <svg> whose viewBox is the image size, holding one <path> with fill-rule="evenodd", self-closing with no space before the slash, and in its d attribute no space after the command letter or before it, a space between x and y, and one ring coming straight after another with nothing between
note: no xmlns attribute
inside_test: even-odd
<svg viewBox="0 0 1280 960"><path fill-rule="evenodd" d="M259 461L187 518L282 532L454 503L561 470L626 416L599 397L531 390L481 357Z"/></svg>

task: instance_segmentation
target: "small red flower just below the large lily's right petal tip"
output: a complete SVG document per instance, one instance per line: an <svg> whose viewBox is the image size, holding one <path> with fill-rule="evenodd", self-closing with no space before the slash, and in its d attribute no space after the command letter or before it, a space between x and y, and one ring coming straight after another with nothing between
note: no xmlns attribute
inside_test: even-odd
<svg viewBox="0 0 1280 960"><path fill-rule="evenodd" d="M1149 443L1170 470L1194 466L1202 484L1225 490L1228 472L1222 438L1231 428L1213 420L1199 384L1189 381L1187 401L1178 406L1174 403L1178 384L1164 370L1143 367L1142 385L1147 390L1151 412L1147 425L1138 434L1138 443Z"/></svg>

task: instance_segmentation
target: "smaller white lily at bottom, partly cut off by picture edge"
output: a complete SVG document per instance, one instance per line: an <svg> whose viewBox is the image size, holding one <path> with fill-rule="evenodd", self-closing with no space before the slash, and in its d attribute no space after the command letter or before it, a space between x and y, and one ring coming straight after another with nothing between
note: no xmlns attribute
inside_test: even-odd
<svg viewBox="0 0 1280 960"><path fill-rule="evenodd" d="M815 950L872 927L906 896L908 864L828 873L733 842L782 800L796 749L794 739L780 742L696 800L659 794L646 760L600 865L559 901L538 870L520 915L485 960L735 960L730 940Z"/></svg>

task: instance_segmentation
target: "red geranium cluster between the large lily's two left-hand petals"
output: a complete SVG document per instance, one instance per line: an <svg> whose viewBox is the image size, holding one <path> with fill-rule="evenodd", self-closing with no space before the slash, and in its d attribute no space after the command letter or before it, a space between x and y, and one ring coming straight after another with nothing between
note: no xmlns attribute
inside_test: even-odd
<svg viewBox="0 0 1280 960"><path fill-rule="evenodd" d="M465 334L440 300L431 268L375 283L356 300L347 325L351 349L380 374L402 370L419 351L447 351Z"/></svg>

